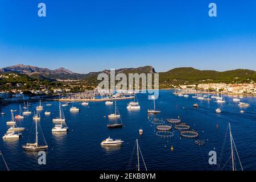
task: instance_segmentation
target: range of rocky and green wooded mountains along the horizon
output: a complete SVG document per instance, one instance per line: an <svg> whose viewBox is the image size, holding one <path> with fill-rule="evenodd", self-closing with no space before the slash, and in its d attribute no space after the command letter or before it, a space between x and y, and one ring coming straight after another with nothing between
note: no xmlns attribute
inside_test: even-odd
<svg viewBox="0 0 256 182"><path fill-rule="evenodd" d="M0 69L0 73L15 72L25 74L32 78L47 80L84 80L90 85L97 84L99 73L110 73L110 70L90 72L87 74L74 73L65 68L51 70L31 65L17 64ZM152 66L138 68L122 68L115 73L156 73ZM159 73L159 83L164 85L198 84L201 82L256 82L256 72L249 69L235 69L231 71L218 72L213 70L199 70L191 67L174 68L167 72Z"/></svg>

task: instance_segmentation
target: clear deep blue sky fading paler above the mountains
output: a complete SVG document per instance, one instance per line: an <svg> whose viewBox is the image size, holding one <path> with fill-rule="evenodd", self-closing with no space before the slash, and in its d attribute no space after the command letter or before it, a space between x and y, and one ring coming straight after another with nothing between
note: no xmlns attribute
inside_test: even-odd
<svg viewBox="0 0 256 182"><path fill-rule="evenodd" d="M78 73L144 65L256 70L256 1L0 0L0 67L19 63Z"/></svg>

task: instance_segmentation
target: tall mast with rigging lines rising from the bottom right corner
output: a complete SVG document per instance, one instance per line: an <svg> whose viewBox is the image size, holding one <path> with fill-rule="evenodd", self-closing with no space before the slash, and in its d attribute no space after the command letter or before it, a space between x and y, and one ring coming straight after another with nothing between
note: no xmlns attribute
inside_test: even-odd
<svg viewBox="0 0 256 182"><path fill-rule="evenodd" d="M237 171L237 165L236 165L237 161L239 162L239 166L240 166L241 170L243 171L243 167L242 167L242 164L241 164L240 157L238 155L237 147L236 147L236 144L234 143L234 138L233 138L233 135L231 133L230 123L228 124L228 129L226 131L225 139L224 139L224 142L223 142L223 145L222 145L221 154L220 154L220 158L219 158L220 160L219 160L218 165L217 165L217 170L219 171L219 170L224 169L226 164L229 164L229 161L231 160L231 162L232 162L231 163L232 164L232 171ZM228 131L229 131L229 138L230 138L231 155L230 155L228 161L224 164L224 166L222 166L222 168L220 168L222 155L224 153L226 138L228 137ZM234 151L236 151L236 153Z"/></svg>

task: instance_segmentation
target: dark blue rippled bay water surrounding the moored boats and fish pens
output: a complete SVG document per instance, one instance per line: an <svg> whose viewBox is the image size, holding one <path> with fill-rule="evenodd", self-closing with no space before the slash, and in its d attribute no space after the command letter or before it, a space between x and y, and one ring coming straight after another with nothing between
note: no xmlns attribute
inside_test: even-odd
<svg viewBox="0 0 256 182"><path fill-rule="evenodd" d="M209 151L216 151L217 160L220 159L222 144L224 143L228 122L236 148L241 159L243 169L256 170L256 97L244 96L241 101L250 104L245 107L245 113L240 113L241 108L233 102L232 96L225 96L225 104L212 101L199 101L192 98L179 97L172 94L172 90L160 90L156 100L156 108L162 113L148 115L147 109L152 109L153 103L147 100L147 94L137 94L140 110L129 111L126 109L130 100L117 101L117 107L122 117L123 127L108 129L107 116L113 113L114 105L107 106L104 102L90 102L89 106L82 106L81 102L73 102L79 107L78 113L71 113L69 108L63 107L68 133L53 134L52 118L59 113L59 102L49 102L52 106L44 105L39 122L46 142L49 146L46 152L46 165L38 164L38 155L34 152L22 150L22 145L27 142L32 127L32 115L17 121L18 126L26 127L19 140L3 140L8 127L6 121L10 120L10 110L18 110L19 104L10 104L1 107L6 115L0 116L0 150L5 157L10 170L126 170L133 152L135 140L138 139L144 161L148 170L216 170L216 165L208 163ZM194 108L193 104L199 104ZM32 103L31 111L35 110L38 103ZM23 106L23 104L22 104ZM221 114L215 109L219 107ZM51 111L51 115L44 115L44 111ZM156 136L155 125L152 118L177 118L188 123L192 129L199 133L197 139L205 140L204 146L197 146L195 139L181 138L179 131L172 127L174 137L159 138ZM218 125L218 127L216 126ZM139 129L143 135L139 135ZM32 128L34 130L34 128ZM101 147L100 143L107 137L122 139L121 147ZM170 150L171 146L174 148ZM222 155L221 166L230 170L230 139L226 138ZM131 159L130 169L136 169L137 156ZM238 164L238 159L236 158ZM142 164L142 159L141 159ZM238 166L238 165L237 165ZM143 166L141 169L144 169ZM237 169L240 169L237 167ZM6 170L0 158L0 170Z"/></svg>

